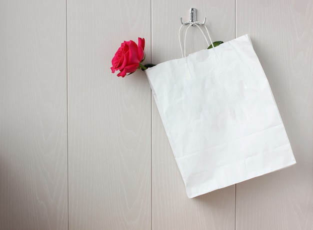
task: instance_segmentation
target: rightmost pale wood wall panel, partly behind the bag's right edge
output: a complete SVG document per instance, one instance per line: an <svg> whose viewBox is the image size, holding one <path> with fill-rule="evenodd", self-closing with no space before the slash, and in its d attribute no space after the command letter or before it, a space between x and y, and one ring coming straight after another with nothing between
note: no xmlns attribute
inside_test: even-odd
<svg viewBox="0 0 313 230"><path fill-rule="evenodd" d="M236 186L236 229L313 229L313 3L237 1L297 164Z"/></svg>

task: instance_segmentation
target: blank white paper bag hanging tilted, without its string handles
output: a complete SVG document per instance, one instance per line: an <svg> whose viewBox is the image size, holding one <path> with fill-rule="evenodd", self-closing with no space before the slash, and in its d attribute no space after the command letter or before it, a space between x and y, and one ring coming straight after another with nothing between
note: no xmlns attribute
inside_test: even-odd
<svg viewBox="0 0 313 230"><path fill-rule="evenodd" d="M189 198L295 164L248 35L145 73Z"/></svg>

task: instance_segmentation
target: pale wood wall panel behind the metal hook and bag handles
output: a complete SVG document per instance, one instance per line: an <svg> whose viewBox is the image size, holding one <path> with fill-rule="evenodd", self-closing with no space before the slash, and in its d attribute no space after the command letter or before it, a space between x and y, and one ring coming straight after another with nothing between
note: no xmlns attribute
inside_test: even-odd
<svg viewBox="0 0 313 230"><path fill-rule="evenodd" d="M166 6L166 7L164 7ZM234 38L234 1L152 1L152 63L180 58L178 29L196 8L213 41ZM182 31L185 31L183 28ZM187 34L188 53L207 48L198 28ZM182 37L182 35L181 35ZM234 229L234 185L188 199L156 105L152 103L152 229Z"/></svg>

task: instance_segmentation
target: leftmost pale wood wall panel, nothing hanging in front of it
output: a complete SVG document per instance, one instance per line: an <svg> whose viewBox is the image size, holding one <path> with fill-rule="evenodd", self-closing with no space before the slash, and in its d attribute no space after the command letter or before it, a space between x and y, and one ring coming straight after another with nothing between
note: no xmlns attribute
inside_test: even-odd
<svg viewBox="0 0 313 230"><path fill-rule="evenodd" d="M0 229L67 229L66 3L1 1Z"/></svg>

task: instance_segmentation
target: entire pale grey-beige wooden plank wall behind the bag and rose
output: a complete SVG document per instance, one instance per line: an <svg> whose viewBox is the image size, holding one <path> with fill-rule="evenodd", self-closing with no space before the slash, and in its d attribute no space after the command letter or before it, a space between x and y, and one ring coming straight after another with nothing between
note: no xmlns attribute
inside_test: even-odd
<svg viewBox="0 0 313 230"><path fill-rule="evenodd" d="M0 3L0 229L313 229L312 1ZM188 199L144 72L109 67L137 37L180 58L192 7L214 41L250 35L297 164Z"/></svg>

